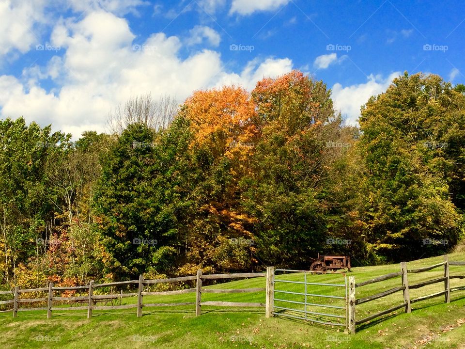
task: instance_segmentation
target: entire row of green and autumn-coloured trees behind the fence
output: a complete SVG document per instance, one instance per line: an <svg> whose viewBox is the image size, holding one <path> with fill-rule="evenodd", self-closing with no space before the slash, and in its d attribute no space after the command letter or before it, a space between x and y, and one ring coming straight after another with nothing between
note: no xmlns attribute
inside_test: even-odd
<svg viewBox="0 0 465 349"><path fill-rule="evenodd" d="M438 255L464 234L465 88L394 79L345 125L299 71L143 95L111 134L0 120L1 285L367 265Z"/></svg>

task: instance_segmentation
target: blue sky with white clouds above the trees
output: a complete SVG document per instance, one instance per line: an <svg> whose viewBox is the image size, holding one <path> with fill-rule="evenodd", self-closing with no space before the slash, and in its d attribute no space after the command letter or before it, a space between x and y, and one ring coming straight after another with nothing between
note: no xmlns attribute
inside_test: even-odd
<svg viewBox="0 0 465 349"><path fill-rule="evenodd" d="M404 70L464 83L464 31L459 1L1 0L0 117L76 138L134 95L182 102L300 69L355 124Z"/></svg>

